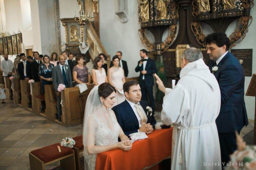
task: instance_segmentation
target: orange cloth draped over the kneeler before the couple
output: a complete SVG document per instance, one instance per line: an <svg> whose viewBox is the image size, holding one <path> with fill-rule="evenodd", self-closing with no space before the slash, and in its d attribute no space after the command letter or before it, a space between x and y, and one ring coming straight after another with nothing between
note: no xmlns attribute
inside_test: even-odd
<svg viewBox="0 0 256 170"><path fill-rule="evenodd" d="M148 137L135 141L130 151L114 149L98 154L95 170L141 170L170 158L172 127L154 130Z"/></svg>

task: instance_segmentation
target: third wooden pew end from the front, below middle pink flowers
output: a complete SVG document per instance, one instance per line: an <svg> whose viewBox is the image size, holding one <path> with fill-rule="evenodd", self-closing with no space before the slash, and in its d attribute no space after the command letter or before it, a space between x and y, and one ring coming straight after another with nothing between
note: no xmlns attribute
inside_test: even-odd
<svg viewBox="0 0 256 170"><path fill-rule="evenodd" d="M41 94L41 82L32 83L32 109L34 112L40 114L41 113L41 99L37 97L37 95Z"/></svg>

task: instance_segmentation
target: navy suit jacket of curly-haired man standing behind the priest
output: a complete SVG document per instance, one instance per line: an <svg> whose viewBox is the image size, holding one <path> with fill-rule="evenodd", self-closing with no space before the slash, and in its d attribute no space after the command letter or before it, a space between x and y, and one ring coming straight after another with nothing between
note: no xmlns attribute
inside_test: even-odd
<svg viewBox="0 0 256 170"><path fill-rule="evenodd" d="M214 61L209 60L207 66L212 72ZM240 62L228 52L214 72L221 93L220 113L216 119L218 133L232 133L248 125L244 103L244 69Z"/></svg>

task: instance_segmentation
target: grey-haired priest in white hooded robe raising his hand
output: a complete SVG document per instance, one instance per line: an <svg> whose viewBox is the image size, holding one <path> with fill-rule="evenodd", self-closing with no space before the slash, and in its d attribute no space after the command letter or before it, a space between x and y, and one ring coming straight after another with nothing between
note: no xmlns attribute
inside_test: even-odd
<svg viewBox="0 0 256 170"><path fill-rule="evenodd" d="M180 80L173 89L164 87L162 121L172 124L171 169L220 170L220 144L215 120L220 111L220 89L197 48L181 56Z"/></svg>

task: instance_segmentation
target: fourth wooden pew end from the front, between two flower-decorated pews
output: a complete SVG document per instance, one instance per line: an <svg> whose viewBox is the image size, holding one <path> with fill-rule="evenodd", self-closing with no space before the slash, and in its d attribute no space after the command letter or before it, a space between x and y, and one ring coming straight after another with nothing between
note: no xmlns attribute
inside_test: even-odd
<svg viewBox="0 0 256 170"><path fill-rule="evenodd" d="M30 84L28 80L20 80L21 84L21 105L22 107L29 107Z"/></svg>

